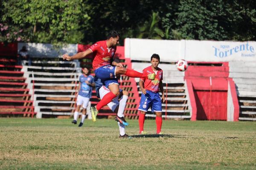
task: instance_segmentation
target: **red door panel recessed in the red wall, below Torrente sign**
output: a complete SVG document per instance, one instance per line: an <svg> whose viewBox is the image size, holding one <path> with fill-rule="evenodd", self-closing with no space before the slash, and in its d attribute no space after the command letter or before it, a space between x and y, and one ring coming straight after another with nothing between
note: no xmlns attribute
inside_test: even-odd
<svg viewBox="0 0 256 170"><path fill-rule="evenodd" d="M227 120L227 91L195 91L195 100L197 120Z"/></svg>

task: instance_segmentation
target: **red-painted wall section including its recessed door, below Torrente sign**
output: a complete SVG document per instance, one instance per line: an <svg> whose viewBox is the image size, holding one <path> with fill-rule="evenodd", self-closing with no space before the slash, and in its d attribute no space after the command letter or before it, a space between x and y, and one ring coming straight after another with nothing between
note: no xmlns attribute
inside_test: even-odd
<svg viewBox="0 0 256 170"><path fill-rule="evenodd" d="M229 67L225 62L222 66L189 66L184 78L192 83L195 96L196 115L192 115L192 120L227 120L228 75ZM212 79L212 86L209 77ZM193 94L190 90L190 99L191 95Z"/></svg>

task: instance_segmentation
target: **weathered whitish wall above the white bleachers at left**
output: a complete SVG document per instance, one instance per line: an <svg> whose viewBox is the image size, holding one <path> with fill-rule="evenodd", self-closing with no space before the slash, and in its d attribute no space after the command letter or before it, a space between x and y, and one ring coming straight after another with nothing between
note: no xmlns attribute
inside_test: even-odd
<svg viewBox="0 0 256 170"><path fill-rule="evenodd" d="M74 55L77 53L77 44L68 44L57 49L52 44L41 43L18 43L18 52L24 45L31 57L61 57L63 54Z"/></svg>

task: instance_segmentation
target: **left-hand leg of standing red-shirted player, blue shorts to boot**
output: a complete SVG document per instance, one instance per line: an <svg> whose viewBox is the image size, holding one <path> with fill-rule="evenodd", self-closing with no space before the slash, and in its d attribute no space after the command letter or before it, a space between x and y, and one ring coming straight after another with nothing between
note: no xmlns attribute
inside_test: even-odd
<svg viewBox="0 0 256 170"><path fill-rule="evenodd" d="M151 93L147 91L146 94L141 94L140 98L140 106L139 106L139 127L140 127L140 134L146 134L144 131L144 122L145 122L145 114L148 111L149 107L151 106Z"/></svg>

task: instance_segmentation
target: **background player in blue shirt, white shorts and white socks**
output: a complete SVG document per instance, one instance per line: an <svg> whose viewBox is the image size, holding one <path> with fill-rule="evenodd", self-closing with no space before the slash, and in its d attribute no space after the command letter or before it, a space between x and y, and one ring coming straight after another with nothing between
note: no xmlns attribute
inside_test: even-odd
<svg viewBox="0 0 256 170"><path fill-rule="evenodd" d="M73 124L77 123L77 117L79 115L81 105L83 104L82 119L79 124L79 127L81 127L84 124L84 119L86 116L86 108L92 96L93 86L94 86L93 76L90 75L89 68L84 67L83 74L79 77L79 87L78 87L79 92L76 98L76 110L74 113L74 120L72 121Z"/></svg>

